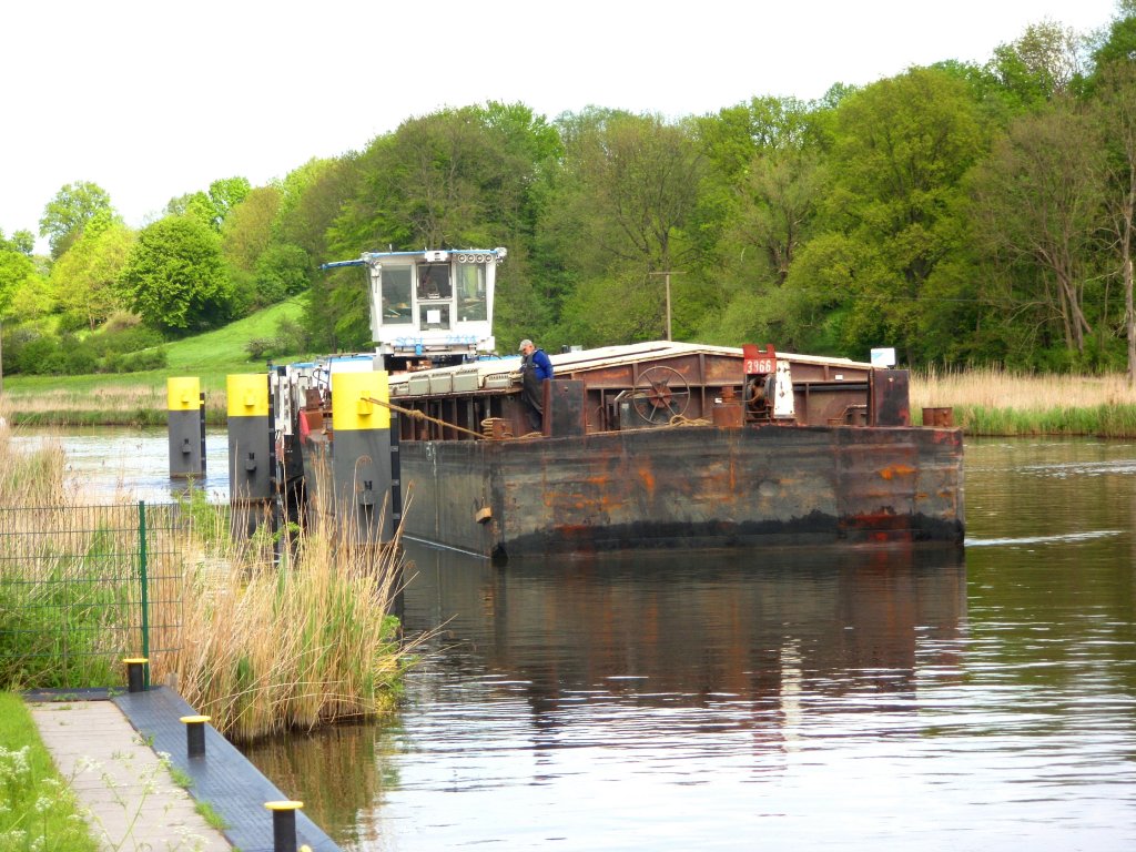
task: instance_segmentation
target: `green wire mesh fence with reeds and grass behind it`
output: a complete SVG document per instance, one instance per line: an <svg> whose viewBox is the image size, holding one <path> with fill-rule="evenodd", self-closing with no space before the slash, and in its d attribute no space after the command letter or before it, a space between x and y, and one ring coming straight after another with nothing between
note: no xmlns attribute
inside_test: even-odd
<svg viewBox="0 0 1136 852"><path fill-rule="evenodd" d="M178 516L144 502L0 508L0 688L122 685L124 657L176 650Z"/></svg>

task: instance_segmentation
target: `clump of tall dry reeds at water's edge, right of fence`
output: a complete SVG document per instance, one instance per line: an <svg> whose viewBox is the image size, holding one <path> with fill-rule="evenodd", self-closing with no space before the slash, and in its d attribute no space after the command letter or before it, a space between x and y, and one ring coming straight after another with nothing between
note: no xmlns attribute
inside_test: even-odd
<svg viewBox="0 0 1136 852"><path fill-rule="evenodd" d="M393 709L412 648L390 612L400 551L358 544L329 515L273 567L254 548L195 537L181 650L154 668L237 738Z"/></svg>

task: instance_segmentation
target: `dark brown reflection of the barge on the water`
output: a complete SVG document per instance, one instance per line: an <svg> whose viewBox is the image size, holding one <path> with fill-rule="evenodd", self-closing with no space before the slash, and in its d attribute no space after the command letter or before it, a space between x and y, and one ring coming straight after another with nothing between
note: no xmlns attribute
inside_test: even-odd
<svg viewBox="0 0 1136 852"><path fill-rule="evenodd" d="M961 554L914 553L636 554L498 569L419 549L407 620L449 617L456 644L437 665L509 673L483 683L523 695L542 725L582 696L720 708L745 725L737 711L776 709L785 678L802 671L822 692L913 688L917 630L955 637L964 612Z"/></svg>

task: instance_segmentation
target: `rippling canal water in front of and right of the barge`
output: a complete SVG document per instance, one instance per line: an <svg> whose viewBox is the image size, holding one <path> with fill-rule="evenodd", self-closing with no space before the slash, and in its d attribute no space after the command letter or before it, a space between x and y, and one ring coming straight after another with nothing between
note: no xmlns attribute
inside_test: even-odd
<svg viewBox="0 0 1136 852"><path fill-rule="evenodd" d="M247 753L351 852L1134 849L1136 444L968 441L966 508L959 552L411 548L398 718Z"/></svg>

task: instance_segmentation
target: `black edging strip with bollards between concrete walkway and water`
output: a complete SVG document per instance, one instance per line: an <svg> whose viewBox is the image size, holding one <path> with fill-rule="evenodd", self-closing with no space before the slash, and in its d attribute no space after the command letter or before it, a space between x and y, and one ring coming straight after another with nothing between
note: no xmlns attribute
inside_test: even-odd
<svg viewBox="0 0 1136 852"><path fill-rule="evenodd" d="M197 716L175 692L154 687L148 692L116 695L126 718L154 751L168 752L170 762L193 779L190 795L208 802L228 828L225 837L241 852L273 852L273 815L265 802L292 799L273 785L211 725L206 725L204 755L190 758L183 716ZM296 847L312 852L337 852L339 846L303 811L295 815Z"/></svg>

